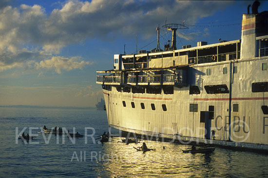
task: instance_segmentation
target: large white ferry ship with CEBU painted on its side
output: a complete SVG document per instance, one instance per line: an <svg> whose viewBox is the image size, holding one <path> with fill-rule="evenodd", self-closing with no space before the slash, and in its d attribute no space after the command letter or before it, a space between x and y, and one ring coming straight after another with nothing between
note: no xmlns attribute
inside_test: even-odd
<svg viewBox="0 0 268 178"><path fill-rule="evenodd" d="M254 6L254 5L253 5ZM97 71L109 126L139 135L268 151L268 11L243 14L241 40L114 55ZM177 25L177 26L176 26Z"/></svg>

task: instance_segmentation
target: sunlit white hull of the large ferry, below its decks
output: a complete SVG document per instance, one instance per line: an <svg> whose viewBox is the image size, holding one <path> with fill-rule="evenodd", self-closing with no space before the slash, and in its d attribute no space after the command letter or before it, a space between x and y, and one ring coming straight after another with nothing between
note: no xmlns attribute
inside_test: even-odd
<svg viewBox="0 0 268 178"><path fill-rule="evenodd" d="M253 82L267 81L268 71L261 69L267 61L265 57L192 65L187 71L189 85L173 86L173 94L127 93L116 86L103 89L109 125L186 144L268 150L268 115L262 110L268 105L268 93L252 92ZM224 74L223 68L229 72ZM189 94L191 85L198 86L200 94ZM204 86L209 85L226 85L229 93L208 94Z"/></svg>

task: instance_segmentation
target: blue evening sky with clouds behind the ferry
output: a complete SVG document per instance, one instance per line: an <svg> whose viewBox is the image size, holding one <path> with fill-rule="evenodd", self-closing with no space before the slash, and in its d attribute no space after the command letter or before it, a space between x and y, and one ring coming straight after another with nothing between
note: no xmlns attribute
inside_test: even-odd
<svg viewBox="0 0 268 178"><path fill-rule="evenodd" d="M103 98L96 71L114 54L160 47L165 23L184 21L177 49L241 39L251 0L0 0L0 106L94 107ZM259 12L268 10L261 1ZM251 12L251 10L250 10Z"/></svg>

